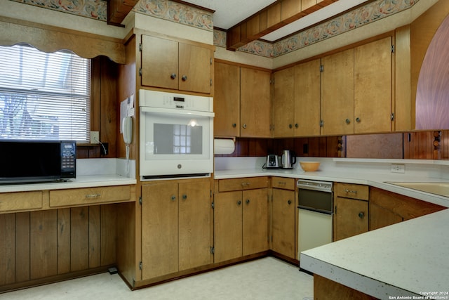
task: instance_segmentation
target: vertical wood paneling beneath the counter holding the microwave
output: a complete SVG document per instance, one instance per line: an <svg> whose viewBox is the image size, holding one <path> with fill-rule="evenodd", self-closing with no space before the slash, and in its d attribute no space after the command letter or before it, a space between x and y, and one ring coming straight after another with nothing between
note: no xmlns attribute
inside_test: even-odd
<svg viewBox="0 0 449 300"><path fill-rule="evenodd" d="M116 206L0 214L0 292L106 270L116 262Z"/></svg>

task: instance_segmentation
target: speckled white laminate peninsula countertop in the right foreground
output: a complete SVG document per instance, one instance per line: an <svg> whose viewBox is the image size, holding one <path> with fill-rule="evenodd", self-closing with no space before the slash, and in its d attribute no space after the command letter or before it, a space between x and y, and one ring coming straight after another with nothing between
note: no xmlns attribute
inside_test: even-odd
<svg viewBox="0 0 449 300"><path fill-rule="evenodd" d="M448 233L445 209L309 249L300 267L379 299L449 299Z"/></svg>

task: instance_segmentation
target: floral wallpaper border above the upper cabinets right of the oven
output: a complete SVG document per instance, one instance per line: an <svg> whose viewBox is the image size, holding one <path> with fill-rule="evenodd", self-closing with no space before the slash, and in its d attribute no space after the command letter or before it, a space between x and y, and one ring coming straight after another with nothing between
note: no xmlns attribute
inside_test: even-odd
<svg viewBox="0 0 449 300"><path fill-rule="evenodd" d="M268 43L265 41L252 41L245 46L237 49L246 53L264 56L267 58L276 58L283 54L290 53L311 44L318 43L338 34L349 32L358 27L386 18L394 13L399 13L411 8L420 0L377 0L366 6L349 11L344 15L324 22L315 27L311 27L303 32L298 32L291 37ZM214 31L215 46L226 47L226 32Z"/></svg>

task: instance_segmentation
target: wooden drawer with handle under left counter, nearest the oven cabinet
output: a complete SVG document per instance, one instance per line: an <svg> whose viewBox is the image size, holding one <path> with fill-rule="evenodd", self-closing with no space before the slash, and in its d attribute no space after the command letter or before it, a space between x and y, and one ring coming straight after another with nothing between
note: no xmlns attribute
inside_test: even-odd
<svg viewBox="0 0 449 300"><path fill-rule="evenodd" d="M91 205L105 202L126 202L129 200L129 185L50 191L50 207Z"/></svg>

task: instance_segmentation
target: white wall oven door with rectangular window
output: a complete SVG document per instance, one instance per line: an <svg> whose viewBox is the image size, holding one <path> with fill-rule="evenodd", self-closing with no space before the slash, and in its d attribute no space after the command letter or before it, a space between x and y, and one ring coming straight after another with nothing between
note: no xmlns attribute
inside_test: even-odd
<svg viewBox="0 0 449 300"><path fill-rule="evenodd" d="M141 179L213 173L213 116L213 112L140 107Z"/></svg>

